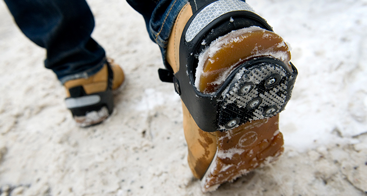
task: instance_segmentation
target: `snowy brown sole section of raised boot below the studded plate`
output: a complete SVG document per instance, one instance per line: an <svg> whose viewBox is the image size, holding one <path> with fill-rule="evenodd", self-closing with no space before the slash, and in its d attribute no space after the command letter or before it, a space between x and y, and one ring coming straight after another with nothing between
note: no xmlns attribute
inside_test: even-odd
<svg viewBox="0 0 367 196"><path fill-rule="evenodd" d="M203 192L216 190L220 184L274 161L283 152L278 116L216 134L217 151L201 180Z"/></svg>

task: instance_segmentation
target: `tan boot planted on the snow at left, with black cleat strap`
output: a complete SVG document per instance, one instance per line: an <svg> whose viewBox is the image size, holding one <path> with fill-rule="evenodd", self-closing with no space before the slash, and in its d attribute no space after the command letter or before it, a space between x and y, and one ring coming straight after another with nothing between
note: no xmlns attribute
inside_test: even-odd
<svg viewBox="0 0 367 196"><path fill-rule="evenodd" d="M64 83L68 109L80 127L98 124L111 115L114 108L112 90L124 81L120 66L108 59L103 68L89 78Z"/></svg>

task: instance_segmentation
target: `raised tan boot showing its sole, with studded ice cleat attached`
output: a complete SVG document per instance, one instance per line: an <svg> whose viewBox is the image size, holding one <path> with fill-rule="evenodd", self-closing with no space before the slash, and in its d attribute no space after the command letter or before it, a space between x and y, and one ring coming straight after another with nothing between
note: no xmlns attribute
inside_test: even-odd
<svg viewBox="0 0 367 196"><path fill-rule="evenodd" d="M297 69L287 44L244 1L190 2L195 8L187 3L173 27L167 62L183 100L188 164L207 192L283 152L278 113Z"/></svg>

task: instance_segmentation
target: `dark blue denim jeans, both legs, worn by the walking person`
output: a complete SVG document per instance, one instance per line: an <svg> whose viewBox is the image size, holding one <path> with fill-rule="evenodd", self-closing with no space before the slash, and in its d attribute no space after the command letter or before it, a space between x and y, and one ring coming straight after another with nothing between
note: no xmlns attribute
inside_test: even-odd
<svg viewBox="0 0 367 196"><path fill-rule="evenodd" d="M91 38L92 12L85 0L4 0L24 35L46 48L45 67L64 83L87 78L106 62L104 49ZM146 22L165 62L173 24L188 0L127 0Z"/></svg>

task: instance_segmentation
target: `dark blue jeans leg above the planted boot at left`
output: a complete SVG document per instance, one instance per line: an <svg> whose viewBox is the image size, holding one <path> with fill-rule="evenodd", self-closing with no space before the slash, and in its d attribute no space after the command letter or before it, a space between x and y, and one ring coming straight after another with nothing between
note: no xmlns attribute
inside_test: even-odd
<svg viewBox="0 0 367 196"><path fill-rule="evenodd" d="M64 83L87 78L105 63L92 38L92 12L85 0L4 0L24 35L46 48L45 66Z"/></svg>

